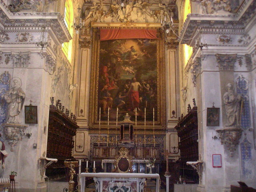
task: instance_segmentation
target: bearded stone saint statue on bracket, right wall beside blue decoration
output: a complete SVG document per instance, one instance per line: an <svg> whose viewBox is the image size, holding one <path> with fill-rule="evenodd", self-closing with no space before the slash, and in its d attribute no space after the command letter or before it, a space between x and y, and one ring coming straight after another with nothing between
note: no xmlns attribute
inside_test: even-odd
<svg viewBox="0 0 256 192"><path fill-rule="evenodd" d="M230 83L226 85L226 90L227 92L223 95L223 102L225 104L225 111L227 114L228 122L225 126L240 126L242 96L234 92L234 87Z"/></svg>

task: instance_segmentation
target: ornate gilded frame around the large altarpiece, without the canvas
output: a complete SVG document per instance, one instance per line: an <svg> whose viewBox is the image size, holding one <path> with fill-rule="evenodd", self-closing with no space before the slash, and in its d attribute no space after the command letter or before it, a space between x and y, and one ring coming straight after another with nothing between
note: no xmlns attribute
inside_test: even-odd
<svg viewBox="0 0 256 192"><path fill-rule="evenodd" d="M157 30L157 94L158 94L158 120L155 121L155 129L165 129L166 127L166 76L165 76L165 49L164 32ZM90 76L90 98L89 98L89 129L98 130L98 79L99 79L99 60L100 60L100 32L96 28L92 34L92 56L91 56L91 76ZM101 121L102 128L107 121ZM138 122L138 126L144 122ZM146 130L152 130L153 122L146 122ZM110 121L110 129L116 128L116 122ZM98 132L97 132L98 133Z"/></svg>

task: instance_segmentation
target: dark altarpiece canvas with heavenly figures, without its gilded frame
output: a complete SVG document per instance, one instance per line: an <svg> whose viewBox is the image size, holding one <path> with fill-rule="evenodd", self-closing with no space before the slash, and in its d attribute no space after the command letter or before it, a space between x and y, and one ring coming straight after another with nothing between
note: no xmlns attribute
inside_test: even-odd
<svg viewBox="0 0 256 192"><path fill-rule="evenodd" d="M101 120L157 120L157 43L155 39L100 42L98 114ZM98 116L99 120L99 116Z"/></svg>

